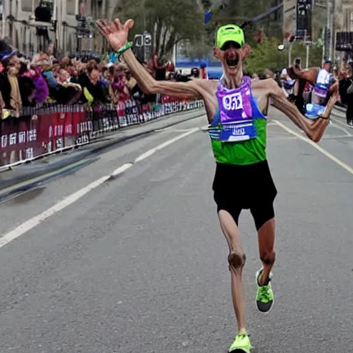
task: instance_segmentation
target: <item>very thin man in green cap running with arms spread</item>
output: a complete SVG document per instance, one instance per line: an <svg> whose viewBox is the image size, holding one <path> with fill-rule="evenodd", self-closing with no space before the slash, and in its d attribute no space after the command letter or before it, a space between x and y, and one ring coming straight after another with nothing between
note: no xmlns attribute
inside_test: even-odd
<svg viewBox="0 0 353 353"><path fill-rule="evenodd" d="M122 24L97 22L101 33L114 50L122 55L141 88L148 94L165 94L180 99L201 98L210 123L210 139L216 174L213 182L214 201L221 229L228 241L232 280L232 299L238 329L229 352L250 352L245 326L245 301L241 281L245 254L241 248L238 219L241 210L250 209L259 235L261 269L256 273L256 304L268 312L274 302L271 269L274 252L274 198L276 187L266 159L266 125L268 103L281 110L312 139L319 141L329 123L336 95L330 98L325 112L314 121L303 117L273 79L251 81L243 77L243 59L250 47L245 45L243 30L235 25L216 31L214 57L223 65L220 81L196 79L186 83L155 81L134 57L128 43L131 19ZM261 58L259 58L261 60Z"/></svg>

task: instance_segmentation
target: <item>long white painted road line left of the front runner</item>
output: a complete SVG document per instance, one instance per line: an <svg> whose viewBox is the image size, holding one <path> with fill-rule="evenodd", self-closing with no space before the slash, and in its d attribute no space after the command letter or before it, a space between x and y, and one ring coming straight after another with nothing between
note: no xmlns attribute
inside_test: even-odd
<svg viewBox="0 0 353 353"><path fill-rule="evenodd" d="M149 151L141 154L141 156L135 160L135 163L137 161L142 161L143 159L150 157L157 150L161 150L162 148L165 148L168 145L170 145L180 139L183 139L184 137L187 137L196 131L199 131L199 128L194 128L188 132L185 132L184 134L181 134L177 137L174 137L173 139L170 139L168 141L165 141L164 143L161 143L156 148L152 148L152 150L149 150ZM100 185L105 183L105 181L108 181L112 177L117 177L117 175L121 174L122 172L125 172L125 170L128 170L129 168L131 168L132 165L133 165L132 163L125 163L125 164L121 165L119 168L114 170L114 172L112 172L112 174L105 175L104 177L101 177L101 178L97 179L96 181L93 181L92 183L86 185L84 188L65 197L65 199L59 201L58 203L55 203L55 205L53 205L51 208L48 208L48 210L43 211L40 214L38 214L37 216L34 216L31 219L28 219L28 221L21 223L16 228L14 228L13 230L10 230L10 232L8 232L0 237L0 248L5 246L6 244L10 243L14 239L19 238L19 236L22 236L23 234L25 234L29 230L33 229L34 227L36 227L37 225L39 225L40 223L42 223L43 221L48 219L53 214L56 214L57 212L63 210L64 208L68 207L72 203L81 199L81 197L85 196L85 194L88 194L88 192L94 190L95 188L98 188Z"/></svg>

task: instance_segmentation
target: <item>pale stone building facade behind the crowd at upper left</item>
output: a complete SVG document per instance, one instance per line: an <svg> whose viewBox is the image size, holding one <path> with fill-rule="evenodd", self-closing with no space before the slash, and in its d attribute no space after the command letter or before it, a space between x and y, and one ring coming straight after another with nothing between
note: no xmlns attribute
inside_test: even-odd
<svg viewBox="0 0 353 353"><path fill-rule="evenodd" d="M15 48L32 55L43 48L43 40L37 35L38 28L46 28L50 41L60 54L76 50L101 50L103 39L97 31L92 39L77 38L79 0L42 0L52 6L53 24L34 21L39 1L1 0L1 37L10 38ZM93 20L102 17L110 19L114 6L112 0L85 0L85 16Z"/></svg>

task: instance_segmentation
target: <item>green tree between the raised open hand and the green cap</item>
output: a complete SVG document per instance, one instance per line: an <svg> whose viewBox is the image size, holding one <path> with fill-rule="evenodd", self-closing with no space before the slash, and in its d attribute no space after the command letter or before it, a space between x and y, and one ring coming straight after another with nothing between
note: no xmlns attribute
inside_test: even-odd
<svg viewBox="0 0 353 353"><path fill-rule="evenodd" d="M131 36L148 30L154 39L154 52L170 57L175 43L196 43L204 33L203 8L197 0L122 0L114 16L135 20Z"/></svg>

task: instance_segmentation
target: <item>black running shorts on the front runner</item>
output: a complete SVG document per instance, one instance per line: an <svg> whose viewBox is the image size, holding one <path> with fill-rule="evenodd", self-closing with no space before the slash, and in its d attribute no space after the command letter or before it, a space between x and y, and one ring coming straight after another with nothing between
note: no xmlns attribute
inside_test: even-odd
<svg viewBox="0 0 353 353"><path fill-rule="evenodd" d="M217 212L229 212L236 224L241 210L250 210L256 230L274 218L277 190L268 161L250 165L216 163L212 189Z"/></svg>

